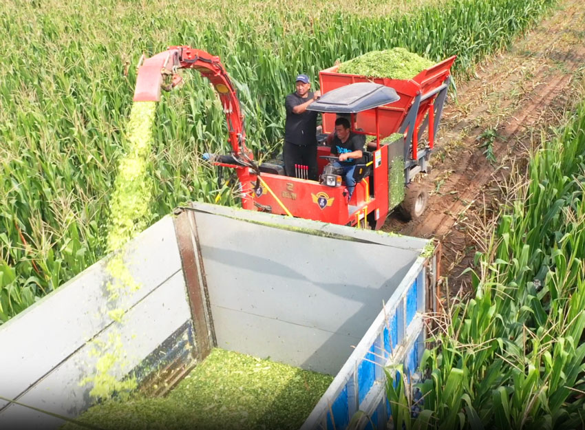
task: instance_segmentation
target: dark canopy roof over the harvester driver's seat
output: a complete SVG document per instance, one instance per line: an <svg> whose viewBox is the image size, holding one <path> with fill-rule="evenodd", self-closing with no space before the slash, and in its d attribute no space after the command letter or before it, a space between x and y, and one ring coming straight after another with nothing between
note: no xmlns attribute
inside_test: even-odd
<svg viewBox="0 0 585 430"><path fill-rule="evenodd" d="M396 94L394 88L373 82L359 82L326 92L319 100L308 105L307 110L357 114L398 100L400 96Z"/></svg>

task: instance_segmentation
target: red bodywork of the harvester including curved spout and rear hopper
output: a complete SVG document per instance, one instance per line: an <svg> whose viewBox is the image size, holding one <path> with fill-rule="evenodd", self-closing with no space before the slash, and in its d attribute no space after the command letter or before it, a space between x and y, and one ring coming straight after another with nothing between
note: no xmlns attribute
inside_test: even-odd
<svg viewBox="0 0 585 430"><path fill-rule="evenodd" d="M434 135L440 120L449 85L449 69L455 57L430 67L413 79L374 79L375 83L393 87L400 100L391 105L375 107L351 115L352 130L372 136L368 145L368 166L371 172L361 179L347 202L345 186L326 186L317 181L289 177L265 165L258 165L245 145L243 114L235 89L220 58L194 50L189 46L169 47L139 63L134 101L159 101L160 89L170 89L180 80L178 69L195 69L214 85L226 115L231 155L214 158L220 166L236 169L242 184L242 207L251 210L315 219L333 224L381 228L394 206L390 205L389 144L381 144L392 133L403 133L401 142L404 161L404 184L419 171L426 170L425 162L433 149ZM327 92L357 82L371 82L365 76L337 73L337 66L319 73L321 92ZM323 131L334 128L335 114L323 114ZM429 130L427 144L419 149L425 129ZM403 149L402 149L403 147ZM330 148L319 146L318 157L330 155ZM318 158L319 175L327 162Z"/></svg>

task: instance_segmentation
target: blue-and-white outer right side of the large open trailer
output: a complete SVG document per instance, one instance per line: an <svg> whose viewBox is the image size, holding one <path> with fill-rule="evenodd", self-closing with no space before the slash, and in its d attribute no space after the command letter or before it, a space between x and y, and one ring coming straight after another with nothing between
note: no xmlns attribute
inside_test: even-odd
<svg viewBox="0 0 585 430"><path fill-rule="evenodd" d="M386 427L391 409L383 367L403 364L410 378L420 365L427 336L425 312L436 311L437 268L437 254L430 260L418 258L301 430L346 429L357 411L369 418L359 421L359 429L371 429L372 424L377 429Z"/></svg>

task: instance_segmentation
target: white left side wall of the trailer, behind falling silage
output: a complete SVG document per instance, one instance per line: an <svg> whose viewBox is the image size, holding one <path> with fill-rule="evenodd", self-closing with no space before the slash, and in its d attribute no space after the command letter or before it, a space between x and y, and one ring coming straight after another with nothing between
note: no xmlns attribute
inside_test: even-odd
<svg viewBox="0 0 585 430"><path fill-rule="evenodd" d="M99 261L0 326L0 396L73 418L90 404L92 385L79 385L95 372L89 341L107 341L113 330L119 332L128 372L190 320L171 217L132 241L125 259L142 285L134 294L108 303L108 277ZM123 325L107 315L112 308L127 310ZM62 422L0 400L0 429L55 428Z"/></svg>

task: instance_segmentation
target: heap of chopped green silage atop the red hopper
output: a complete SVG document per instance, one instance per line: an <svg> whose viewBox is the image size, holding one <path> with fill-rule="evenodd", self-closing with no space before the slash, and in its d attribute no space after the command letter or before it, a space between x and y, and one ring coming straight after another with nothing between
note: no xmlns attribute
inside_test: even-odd
<svg viewBox="0 0 585 430"><path fill-rule="evenodd" d="M370 78L410 79L434 65L403 47L372 51L339 65L337 72Z"/></svg>

